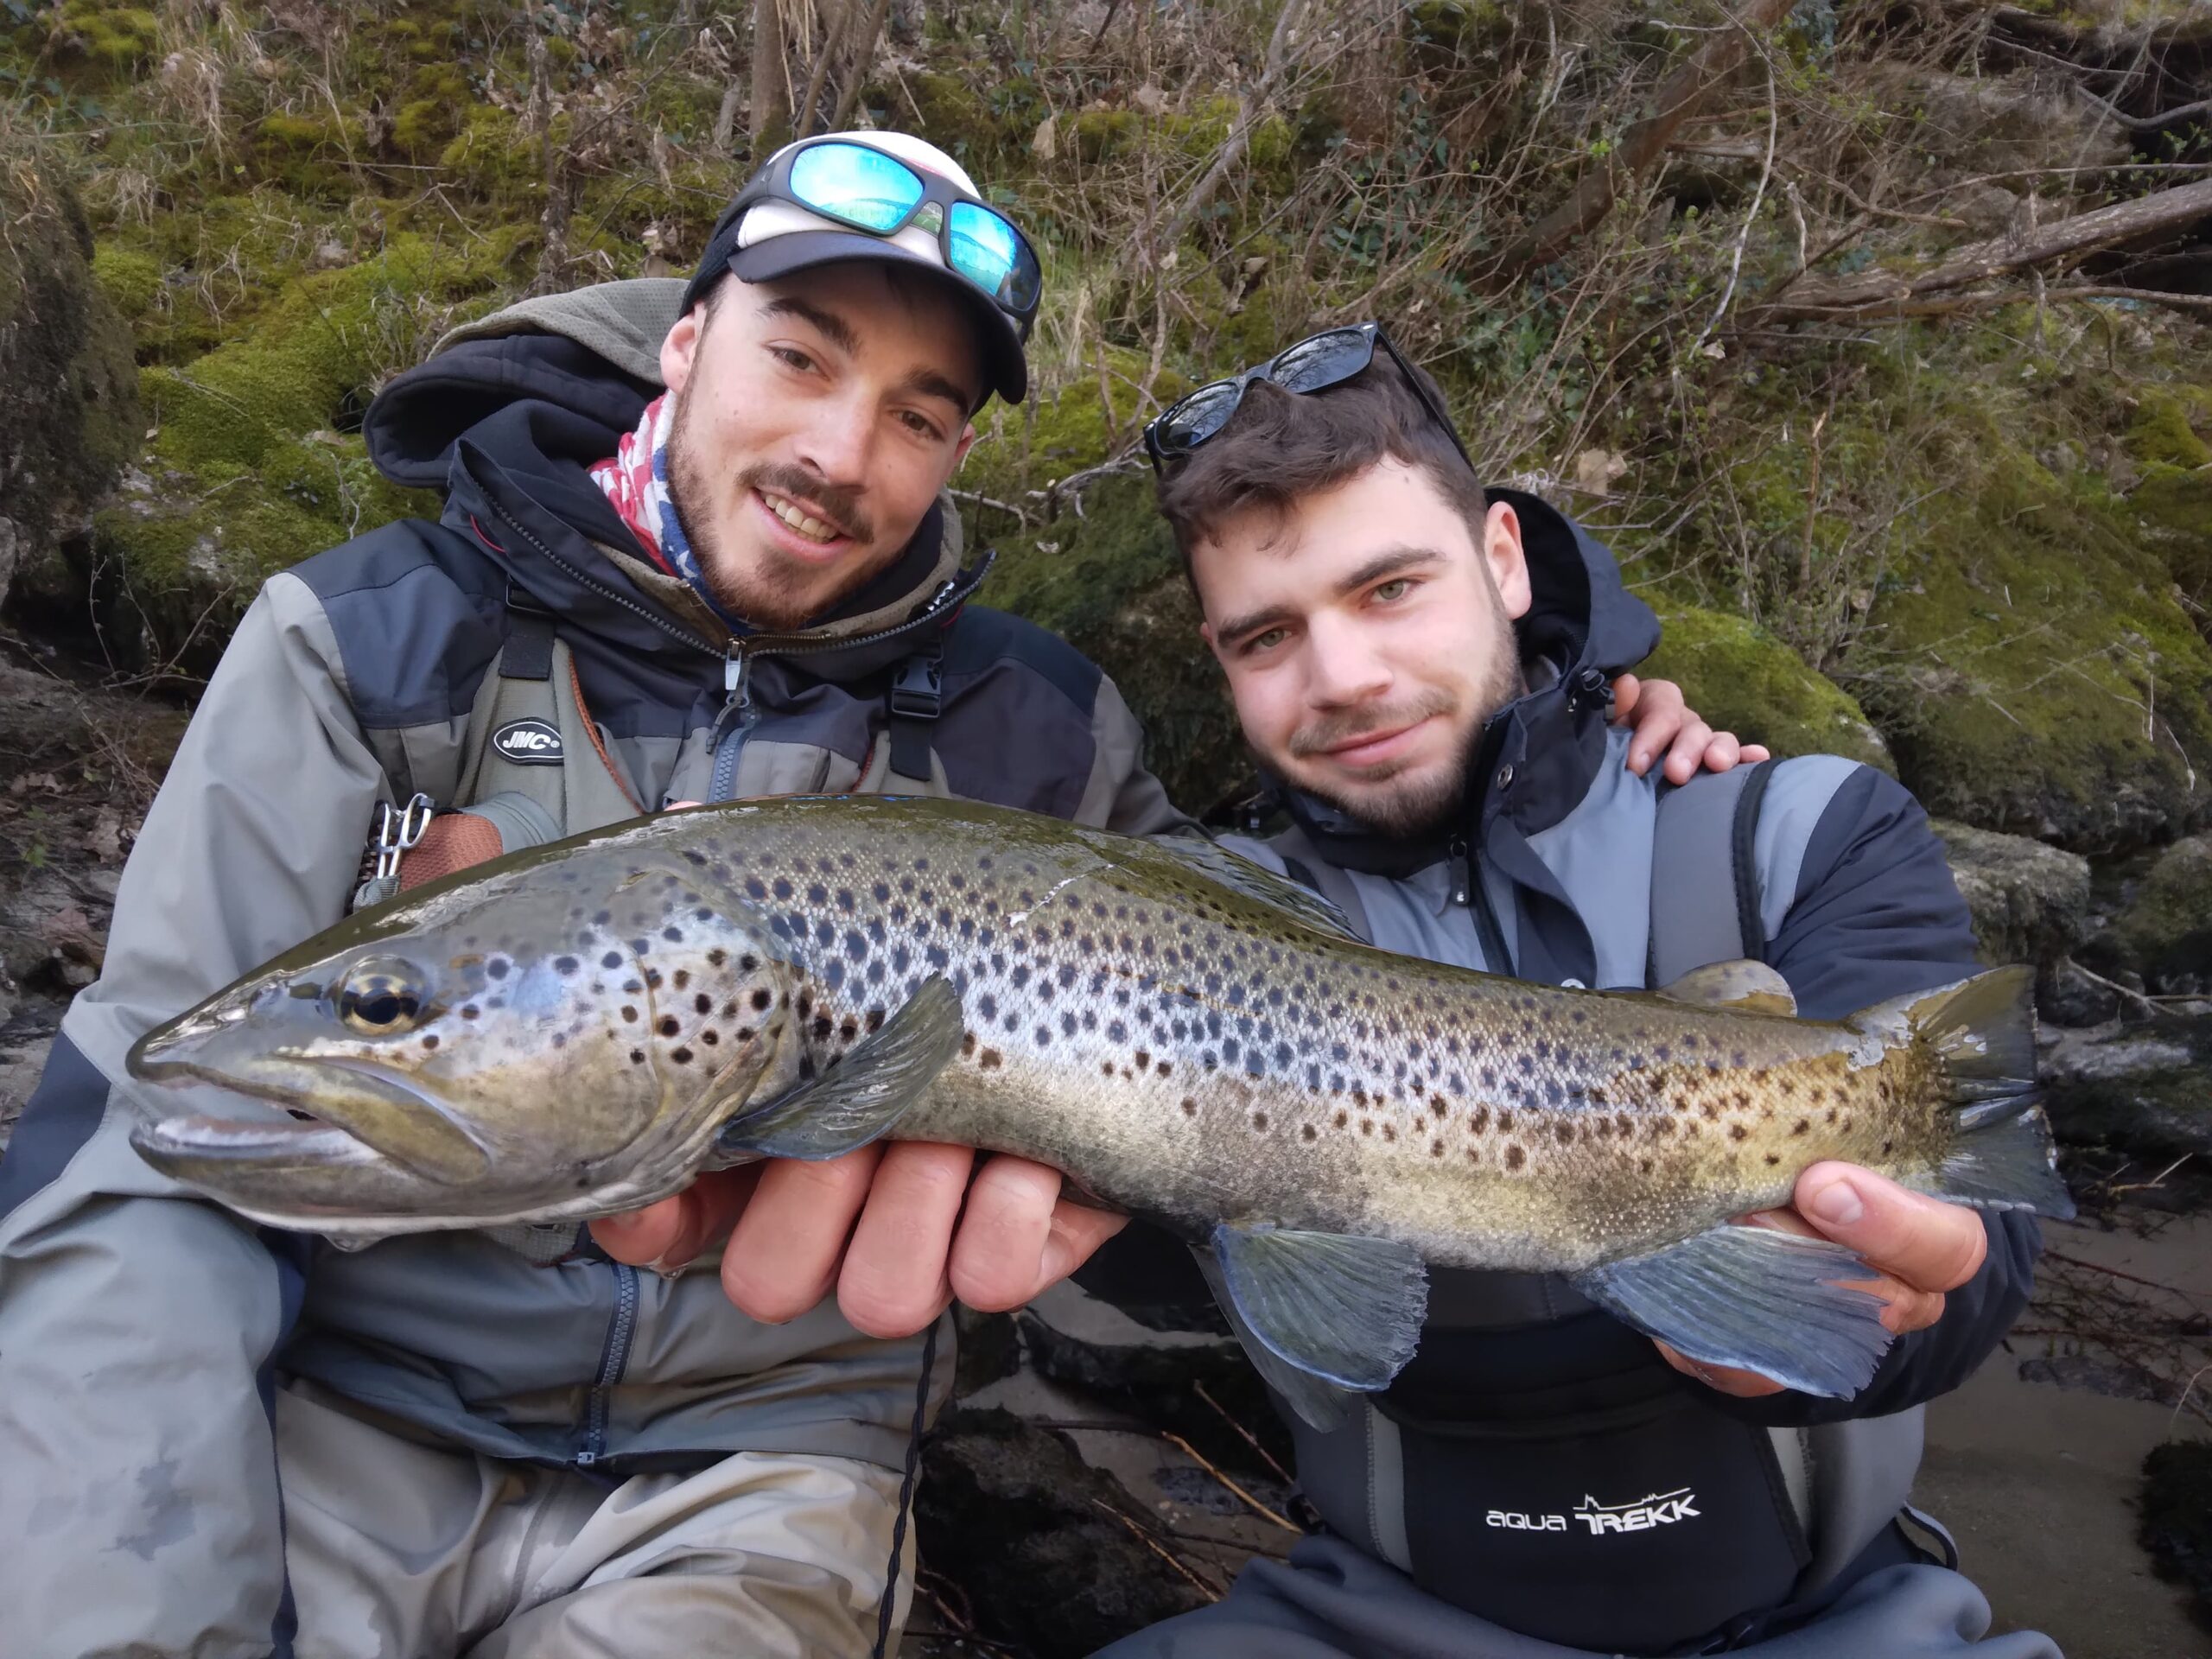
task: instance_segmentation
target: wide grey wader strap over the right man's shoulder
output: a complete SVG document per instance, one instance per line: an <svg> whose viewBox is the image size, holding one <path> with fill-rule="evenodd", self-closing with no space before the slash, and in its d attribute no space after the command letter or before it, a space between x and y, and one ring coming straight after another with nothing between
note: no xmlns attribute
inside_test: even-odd
<svg viewBox="0 0 2212 1659"><path fill-rule="evenodd" d="M1661 790L1646 984L1672 984L1708 962L1765 956L1754 836L1772 765L1705 772L1679 790Z"/></svg>

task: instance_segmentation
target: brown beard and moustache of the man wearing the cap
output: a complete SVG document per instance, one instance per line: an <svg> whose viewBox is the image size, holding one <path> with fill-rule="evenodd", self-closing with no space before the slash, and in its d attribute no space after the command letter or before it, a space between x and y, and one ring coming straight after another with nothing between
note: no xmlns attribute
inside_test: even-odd
<svg viewBox="0 0 2212 1659"><path fill-rule="evenodd" d="M821 509L821 518L849 531L863 551L845 568L823 571L794 564L774 546L763 546L763 557L754 568L739 568L739 562L728 557L721 522L714 515L717 480L699 456L690 429L688 394L690 385L675 394L677 409L668 422L668 498L675 502L684 535L690 538L699 573L723 611L765 630L803 628L856 593L872 575L898 557L900 549L896 546L883 553L867 551L867 544L876 538L876 529L867 513L860 511L858 491L845 484L830 484L803 467L754 462L737 476L741 495L765 489L816 507Z"/></svg>

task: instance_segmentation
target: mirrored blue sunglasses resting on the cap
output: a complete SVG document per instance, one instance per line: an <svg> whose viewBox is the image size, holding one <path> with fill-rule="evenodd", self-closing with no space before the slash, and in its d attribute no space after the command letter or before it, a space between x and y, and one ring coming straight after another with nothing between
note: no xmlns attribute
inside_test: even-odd
<svg viewBox="0 0 2212 1659"><path fill-rule="evenodd" d="M1044 276L1037 252L1013 219L887 150L852 139L794 144L745 186L723 223L768 199L792 201L869 237L896 237L907 226L920 226L938 239L947 270L1006 312L1024 336L1037 314Z"/></svg>

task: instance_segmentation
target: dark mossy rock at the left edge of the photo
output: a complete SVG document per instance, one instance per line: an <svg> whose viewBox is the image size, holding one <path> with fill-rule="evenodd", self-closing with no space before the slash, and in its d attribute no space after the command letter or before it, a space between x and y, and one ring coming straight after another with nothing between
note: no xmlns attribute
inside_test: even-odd
<svg viewBox="0 0 2212 1659"><path fill-rule="evenodd" d="M0 150L0 597L82 602L62 557L137 449L131 330L93 276L73 184Z"/></svg>

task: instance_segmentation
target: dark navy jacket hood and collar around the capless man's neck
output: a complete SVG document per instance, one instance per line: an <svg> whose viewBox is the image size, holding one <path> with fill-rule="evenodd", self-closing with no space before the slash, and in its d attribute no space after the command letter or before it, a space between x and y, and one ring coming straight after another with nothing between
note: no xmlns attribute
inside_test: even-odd
<svg viewBox="0 0 2212 1659"><path fill-rule="evenodd" d="M1385 836L1325 801L1270 779L1274 799L1329 863L1405 876L1489 825L1509 818L1522 834L1575 810L1606 752L1613 679L1659 644L1659 617L1621 584L1613 553L1566 513L1517 489L1491 489L1522 524L1528 555L1528 615L1513 624L1528 692L1491 714L1469 761L1467 801L1429 836Z"/></svg>

